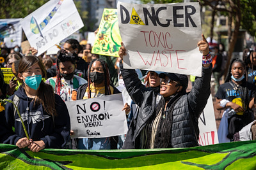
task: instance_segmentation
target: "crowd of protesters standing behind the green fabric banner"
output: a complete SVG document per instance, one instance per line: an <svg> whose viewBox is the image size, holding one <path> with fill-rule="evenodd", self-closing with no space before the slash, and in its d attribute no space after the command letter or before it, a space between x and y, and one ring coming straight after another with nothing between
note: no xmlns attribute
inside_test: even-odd
<svg viewBox="0 0 256 170"><path fill-rule="evenodd" d="M6 84L0 72L0 96L11 99L21 117L12 103L0 106L0 143L28 147L33 152L44 148L198 146L198 118L211 94L211 78L215 80L216 109L225 110L218 130L220 143L256 139L256 52L246 49L243 59L232 59L225 83L221 84L227 62L224 46L208 43L203 34L195 43L202 53L198 56L202 57L202 77L193 80L189 92L187 75L124 69L122 59L127 51L123 43L120 57L93 54L90 44L76 39L65 41L56 54L45 52L37 57L33 47L22 53L19 46L2 46L1 67L11 68L14 76ZM75 132L70 129L72 113L68 113L65 101L121 92L129 127L125 136L70 138ZM252 136L246 136L244 128L252 131Z"/></svg>

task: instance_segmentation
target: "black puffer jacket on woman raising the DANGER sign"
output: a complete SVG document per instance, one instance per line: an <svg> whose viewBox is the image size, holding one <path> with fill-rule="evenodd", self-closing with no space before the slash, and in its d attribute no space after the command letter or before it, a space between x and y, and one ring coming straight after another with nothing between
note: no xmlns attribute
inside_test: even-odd
<svg viewBox="0 0 256 170"><path fill-rule="evenodd" d="M140 110L138 110L132 119L123 149L140 148L140 132L154 111L156 111L157 93L154 90L150 90L150 88L145 88L133 69L123 69L121 62L120 68L127 92L129 92L132 100L140 107ZM198 118L204 110L211 93L211 73L212 66L207 68L202 67L202 77L196 77L195 85L191 92L184 94L175 103L173 111L169 115L173 118L172 139L168 148L198 146ZM168 103L167 111L170 105Z"/></svg>

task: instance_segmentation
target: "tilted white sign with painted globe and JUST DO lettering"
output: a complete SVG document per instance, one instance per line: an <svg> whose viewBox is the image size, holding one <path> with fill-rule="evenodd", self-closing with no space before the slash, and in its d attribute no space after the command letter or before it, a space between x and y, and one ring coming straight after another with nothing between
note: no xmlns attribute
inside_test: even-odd
<svg viewBox="0 0 256 170"><path fill-rule="evenodd" d="M37 55L70 36L83 21L72 0L52 0L20 21L30 45Z"/></svg>

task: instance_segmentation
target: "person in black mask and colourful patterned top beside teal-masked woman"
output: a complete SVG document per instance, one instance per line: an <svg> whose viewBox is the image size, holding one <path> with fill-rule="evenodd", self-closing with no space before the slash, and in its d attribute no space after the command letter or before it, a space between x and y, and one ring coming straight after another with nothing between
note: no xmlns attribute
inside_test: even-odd
<svg viewBox="0 0 256 170"><path fill-rule="evenodd" d="M79 86L87 83L86 80L75 74L77 67L76 53L68 53L60 50L57 54L57 76L48 78L46 83L52 85L54 92L61 96L63 101L75 101L76 90Z"/></svg>

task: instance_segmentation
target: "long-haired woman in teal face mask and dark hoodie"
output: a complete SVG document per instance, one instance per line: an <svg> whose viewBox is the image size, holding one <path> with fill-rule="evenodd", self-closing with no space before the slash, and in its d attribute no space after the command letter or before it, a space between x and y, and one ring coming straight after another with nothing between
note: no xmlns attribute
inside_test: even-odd
<svg viewBox="0 0 256 170"><path fill-rule="evenodd" d="M69 138L70 118L67 106L54 94L51 85L42 81L46 71L41 60L26 56L20 60L18 79L22 85L10 97L17 102L21 118L28 132L26 138L19 115L12 103L1 114L0 142L38 152L44 148L63 148Z"/></svg>

